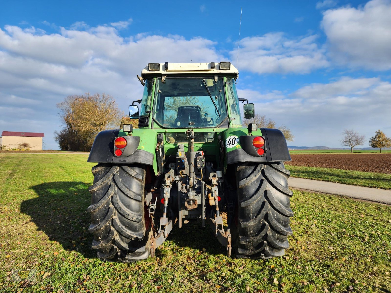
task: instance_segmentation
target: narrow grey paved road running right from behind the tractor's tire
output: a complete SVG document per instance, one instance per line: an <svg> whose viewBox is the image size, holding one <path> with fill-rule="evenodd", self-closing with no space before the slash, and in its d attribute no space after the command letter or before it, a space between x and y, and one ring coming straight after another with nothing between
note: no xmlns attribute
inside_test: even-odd
<svg viewBox="0 0 391 293"><path fill-rule="evenodd" d="M320 193L329 193L343 195L345 197L369 200L371 202L380 202L391 205L391 190L376 189L334 182L301 179L290 177L288 179L289 187L315 191Z"/></svg>

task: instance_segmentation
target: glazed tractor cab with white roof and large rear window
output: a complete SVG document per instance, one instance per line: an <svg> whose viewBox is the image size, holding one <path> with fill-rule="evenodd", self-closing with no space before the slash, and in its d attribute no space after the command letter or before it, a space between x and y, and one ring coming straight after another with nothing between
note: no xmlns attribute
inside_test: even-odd
<svg viewBox="0 0 391 293"><path fill-rule="evenodd" d="M145 85L139 117L135 106L130 117L139 118L139 128L241 127L237 76L229 62L149 63L139 77Z"/></svg>

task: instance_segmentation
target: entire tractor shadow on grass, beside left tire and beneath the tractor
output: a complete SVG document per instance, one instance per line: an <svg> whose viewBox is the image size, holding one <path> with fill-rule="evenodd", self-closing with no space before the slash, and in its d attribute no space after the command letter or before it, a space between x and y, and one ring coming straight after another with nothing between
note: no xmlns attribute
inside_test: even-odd
<svg viewBox="0 0 391 293"><path fill-rule="evenodd" d="M30 186L38 197L22 202L20 211L31 217L38 231L60 243L64 249L78 251L84 257L96 257L96 250L91 248L93 236L88 232L91 217L86 212L91 204L89 186L84 182L61 181ZM176 224L167 240L179 247L200 251L205 248L209 254L226 253L208 224L201 228L198 221L183 224L181 229ZM158 248L156 256L163 257L164 250Z"/></svg>

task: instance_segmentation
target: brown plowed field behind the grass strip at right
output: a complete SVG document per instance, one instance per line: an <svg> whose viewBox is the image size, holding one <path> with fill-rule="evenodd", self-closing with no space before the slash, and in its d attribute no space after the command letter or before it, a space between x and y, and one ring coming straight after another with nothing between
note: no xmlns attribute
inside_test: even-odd
<svg viewBox="0 0 391 293"><path fill-rule="evenodd" d="M286 164L391 174L391 154L296 154L291 158Z"/></svg>

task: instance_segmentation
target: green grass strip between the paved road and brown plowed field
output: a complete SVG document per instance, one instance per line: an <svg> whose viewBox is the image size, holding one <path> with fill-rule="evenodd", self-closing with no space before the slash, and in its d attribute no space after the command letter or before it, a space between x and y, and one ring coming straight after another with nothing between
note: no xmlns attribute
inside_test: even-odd
<svg viewBox="0 0 391 293"><path fill-rule="evenodd" d="M285 164L292 177L391 189L391 174Z"/></svg>

